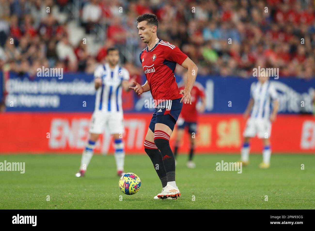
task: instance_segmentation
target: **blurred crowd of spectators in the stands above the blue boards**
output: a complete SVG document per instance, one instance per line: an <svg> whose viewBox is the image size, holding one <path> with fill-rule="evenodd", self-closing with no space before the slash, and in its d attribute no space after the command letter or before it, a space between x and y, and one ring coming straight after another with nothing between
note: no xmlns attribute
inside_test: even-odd
<svg viewBox="0 0 315 231"><path fill-rule="evenodd" d="M44 66L93 73L106 50L116 46L131 54L122 59L130 74L143 75L139 53L146 46L135 18L154 13L159 38L180 47L201 75L248 78L261 66L279 68L283 77L314 77L314 1L0 0L0 5L2 70L34 76ZM71 9L76 6L77 24L86 34L105 28L95 54L87 44L69 41Z"/></svg>

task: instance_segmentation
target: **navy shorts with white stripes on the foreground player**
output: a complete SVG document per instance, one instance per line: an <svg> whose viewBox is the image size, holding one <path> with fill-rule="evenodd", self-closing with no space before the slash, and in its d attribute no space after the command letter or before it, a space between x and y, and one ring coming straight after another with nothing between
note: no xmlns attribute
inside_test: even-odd
<svg viewBox="0 0 315 231"><path fill-rule="evenodd" d="M180 103L181 98L173 100L165 100L157 105L152 115L149 128L154 133L155 124L161 123L169 126L174 130L176 121L183 107L183 102Z"/></svg>

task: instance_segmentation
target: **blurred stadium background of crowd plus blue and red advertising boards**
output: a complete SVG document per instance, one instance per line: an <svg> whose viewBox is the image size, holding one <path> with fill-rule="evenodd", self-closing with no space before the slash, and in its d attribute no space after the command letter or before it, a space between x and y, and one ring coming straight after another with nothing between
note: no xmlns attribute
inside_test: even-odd
<svg viewBox="0 0 315 231"><path fill-rule="evenodd" d="M94 110L93 72L106 50L116 46L121 65L145 82L139 53L146 45L135 23L143 13L157 14L158 37L198 66L207 106L197 153L239 153L258 66L279 68L279 79L271 78L280 101L273 152L315 153L314 1L0 0L0 154L81 153ZM42 67L62 68L63 78L37 77ZM185 71L178 66L175 74L180 82ZM127 154L144 154L151 97L123 93ZM106 131L96 152L111 153L111 143ZM252 150L261 153L259 140Z"/></svg>

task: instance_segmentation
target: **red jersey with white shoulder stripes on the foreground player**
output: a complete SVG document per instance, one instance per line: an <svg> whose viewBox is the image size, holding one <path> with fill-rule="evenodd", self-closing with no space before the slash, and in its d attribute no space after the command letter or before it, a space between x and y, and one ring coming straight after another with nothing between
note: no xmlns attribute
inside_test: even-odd
<svg viewBox="0 0 315 231"><path fill-rule="evenodd" d="M151 94L156 102L181 98L175 81L176 63L182 64L187 55L180 49L162 39L149 51L146 47L140 53L140 62L146 79L148 80Z"/></svg>

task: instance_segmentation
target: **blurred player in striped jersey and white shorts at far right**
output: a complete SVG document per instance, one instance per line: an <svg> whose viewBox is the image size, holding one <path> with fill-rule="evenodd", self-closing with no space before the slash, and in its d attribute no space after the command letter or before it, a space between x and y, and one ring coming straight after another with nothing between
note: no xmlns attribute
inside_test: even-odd
<svg viewBox="0 0 315 231"><path fill-rule="evenodd" d="M270 135L271 123L276 120L279 102L277 91L267 74L260 74L258 82L252 83L250 87L250 100L244 117L251 115L246 122L244 130L244 143L241 150L241 161L243 165L249 163L249 140L256 135L263 140L264 149L262 151L263 161L260 168L269 168L271 157Z"/></svg>

